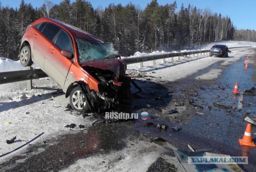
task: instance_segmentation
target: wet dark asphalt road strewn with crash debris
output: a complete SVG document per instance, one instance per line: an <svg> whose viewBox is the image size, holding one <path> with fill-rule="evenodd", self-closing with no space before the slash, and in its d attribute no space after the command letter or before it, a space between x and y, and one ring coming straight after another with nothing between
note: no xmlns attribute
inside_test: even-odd
<svg viewBox="0 0 256 172"><path fill-rule="evenodd" d="M113 160L110 162L111 158L108 158L110 152L114 152L112 153L114 156L116 152L124 152L126 148L138 146L136 144L139 144L139 141L144 143L141 144L142 147L147 144L153 145L150 143L150 137L154 136L164 138L182 150L188 150L187 144L190 144L193 148L210 148L217 154L230 156L248 154L249 164L240 167L245 171L256 171L256 148L242 147L238 144L238 139L242 138L247 124L243 119L245 116L252 117L256 114L256 96L232 94L235 82L238 82L240 92L256 86L256 49L253 51L254 54L250 54L248 60L247 70L244 69L245 51L236 62L225 63L226 59L223 59L175 82L137 80L144 92L132 102L122 106L119 111L146 111L151 119L108 123L102 122L101 118L95 116L86 118L81 116L81 120L100 121L94 126L86 126L79 132L57 136L47 140L46 143L29 146L27 150L23 150L22 154L16 154L2 162L0 171L59 171L66 168L72 171L76 168L69 167L72 164L76 166L74 165L76 161L89 161L88 158L96 156L103 157L103 161L100 162L102 168L87 164L86 168L80 165L83 168L76 171L114 171L118 169L113 167L114 164L119 163L120 166L126 167L131 164L122 162L126 160L122 156L116 158L115 162ZM228 58L234 56L236 54ZM211 75L218 75L218 77L207 79ZM191 101L198 106L190 104ZM213 105L214 102L232 108L219 108ZM174 109L179 113L171 114L170 112ZM203 114L196 114L196 112ZM167 130L159 130L156 127L157 124L162 123L168 125ZM172 127L182 129L175 132ZM255 132L255 126L252 126L252 133ZM256 138L254 134L252 137ZM167 150L160 152L160 148L154 146L148 149L142 148L142 150L140 153L143 155L152 153L157 157L148 167L148 171L182 171L178 163L167 162L162 158L165 156L175 158L172 152ZM104 158L109 161L105 162ZM126 171L123 168L121 170Z"/></svg>

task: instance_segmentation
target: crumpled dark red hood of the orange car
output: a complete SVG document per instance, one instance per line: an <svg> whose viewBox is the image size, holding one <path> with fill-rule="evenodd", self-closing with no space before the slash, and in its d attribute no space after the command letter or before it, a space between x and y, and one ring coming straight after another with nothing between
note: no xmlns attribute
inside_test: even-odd
<svg viewBox="0 0 256 172"><path fill-rule="evenodd" d="M119 59L103 59L103 60L93 60L90 62L81 63L82 66L91 66L94 68L99 68L103 70L110 70L116 76L122 76L126 72L126 62ZM119 74L118 74L119 71Z"/></svg>

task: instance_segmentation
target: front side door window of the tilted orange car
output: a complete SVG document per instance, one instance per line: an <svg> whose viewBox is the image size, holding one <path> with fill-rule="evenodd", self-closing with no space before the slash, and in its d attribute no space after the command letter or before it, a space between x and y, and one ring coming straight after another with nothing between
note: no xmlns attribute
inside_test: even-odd
<svg viewBox="0 0 256 172"><path fill-rule="evenodd" d="M55 45L60 48L60 50L68 50L72 54L74 53L73 45L70 36L65 31L60 31L58 38L55 41Z"/></svg>

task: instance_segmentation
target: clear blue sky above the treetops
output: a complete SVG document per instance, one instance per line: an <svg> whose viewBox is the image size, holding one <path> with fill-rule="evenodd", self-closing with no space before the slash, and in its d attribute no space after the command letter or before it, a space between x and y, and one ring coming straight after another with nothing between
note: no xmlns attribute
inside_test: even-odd
<svg viewBox="0 0 256 172"><path fill-rule="evenodd" d="M55 4L59 4L62 0L52 0ZM75 0L71 0L74 2ZM110 3L126 5L132 2L135 5L140 5L144 9L151 0L88 0L94 8L102 6L105 8ZM2 6L18 8L21 0L0 0ZM25 0L26 3L31 3L33 7L40 7L44 0ZM158 0L160 5L173 3L174 0ZM185 7L188 4L197 8L210 8L212 12L221 13L223 16L230 16L237 29L252 29L256 30L256 0L176 0L178 10L183 3Z"/></svg>

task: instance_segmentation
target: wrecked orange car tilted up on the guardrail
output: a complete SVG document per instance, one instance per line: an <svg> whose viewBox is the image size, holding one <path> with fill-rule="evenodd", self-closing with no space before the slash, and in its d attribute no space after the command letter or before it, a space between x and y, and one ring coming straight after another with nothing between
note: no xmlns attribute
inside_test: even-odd
<svg viewBox="0 0 256 172"><path fill-rule="evenodd" d="M77 112L108 109L130 93L126 63L113 44L74 26L40 18L28 26L20 47L22 66L37 64L70 96Z"/></svg>

